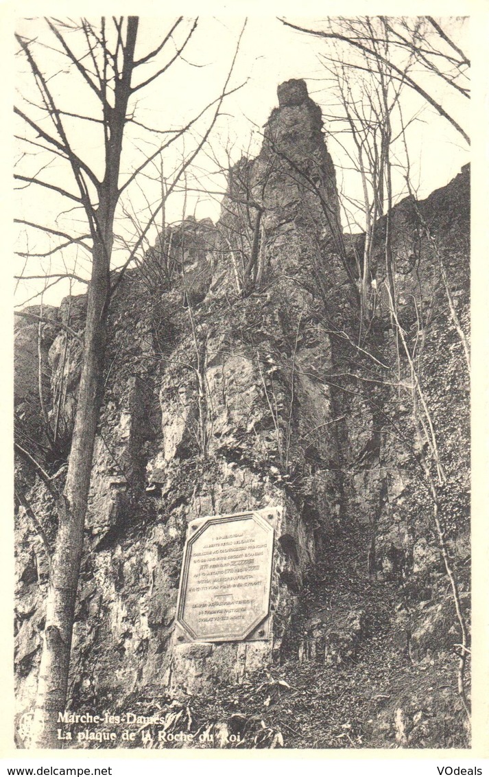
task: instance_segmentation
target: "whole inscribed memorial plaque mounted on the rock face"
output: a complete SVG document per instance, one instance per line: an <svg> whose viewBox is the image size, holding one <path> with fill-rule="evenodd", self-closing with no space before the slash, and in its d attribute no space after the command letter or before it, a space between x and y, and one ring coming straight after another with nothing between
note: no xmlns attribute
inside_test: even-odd
<svg viewBox="0 0 489 777"><path fill-rule="evenodd" d="M177 625L191 639L266 639L258 626L269 615L275 513L264 514L268 518L244 513L190 525Z"/></svg>

